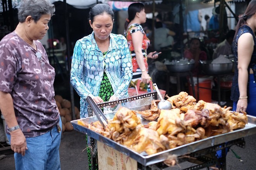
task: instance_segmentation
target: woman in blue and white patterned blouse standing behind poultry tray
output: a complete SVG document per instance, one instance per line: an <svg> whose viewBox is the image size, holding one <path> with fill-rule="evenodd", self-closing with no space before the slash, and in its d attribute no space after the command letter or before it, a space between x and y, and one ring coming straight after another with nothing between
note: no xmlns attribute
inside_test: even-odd
<svg viewBox="0 0 256 170"><path fill-rule="evenodd" d="M88 117L89 95L96 103L128 97L132 77L126 38L111 34L114 13L109 5L91 8L92 34L76 42L71 64L71 84L81 97L80 117Z"/></svg>

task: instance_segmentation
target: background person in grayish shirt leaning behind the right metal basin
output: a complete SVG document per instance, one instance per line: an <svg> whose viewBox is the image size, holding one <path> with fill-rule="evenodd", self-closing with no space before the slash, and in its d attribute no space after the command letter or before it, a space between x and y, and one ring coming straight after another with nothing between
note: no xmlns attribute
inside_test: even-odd
<svg viewBox="0 0 256 170"><path fill-rule="evenodd" d="M214 50L213 59L218 58L220 55L227 55L233 54L232 52L232 42L234 39L235 30L229 30L226 38L220 44L217 45L217 48Z"/></svg>

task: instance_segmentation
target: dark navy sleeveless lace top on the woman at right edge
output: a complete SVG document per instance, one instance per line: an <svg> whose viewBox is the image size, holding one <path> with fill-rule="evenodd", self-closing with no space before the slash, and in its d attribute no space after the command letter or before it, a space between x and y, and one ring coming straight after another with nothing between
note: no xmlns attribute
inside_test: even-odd
<svg viewBox="0 0 256 170"><path fill-rule="evenodd" d="M243 25L239 28L238 32L237 32L237 36L235 37L233 44L232 44L232 49L233 49L233 53L234 53L234 61L235 61L235 73L234 73L234 78L233 78L233 82L232 82L232 88L231 88L231 97L230 99L234 102L238 101L239 98L239 88L238 88L238 68L237 68L237 41L239 39L239 37L244 34L244 33L250 33L253 35L253 40L254 40L254 49L253 49L253 54L251 57L251 61L249 63L248 66L248 75L249 75L249 71L250 68L253 70L253 74L254 74L254 80L256 80L256 37L254 35L253 30L247 26L247 25ZM248 76L248 83L249 83L249 76ZM247 84L247 96L248 96L248 101L249 101L249 97L250 97L250 92L249 92L249 86Z"/></svg>

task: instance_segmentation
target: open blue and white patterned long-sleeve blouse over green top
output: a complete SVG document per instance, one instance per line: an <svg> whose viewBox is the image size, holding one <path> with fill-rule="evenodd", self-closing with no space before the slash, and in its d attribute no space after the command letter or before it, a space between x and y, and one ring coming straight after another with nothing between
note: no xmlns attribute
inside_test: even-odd
<svg viewBox="0 0 256 170"><path fill-rule="evenodd" d="M81 118L88 117L86 97L99 95L104 71L112 85L114 95L119 99L128 97L132 65L126 38L122 35L110 34L109 49L104 58L92 32L76 42L71 63L71 84L81 97Z"/></svg>

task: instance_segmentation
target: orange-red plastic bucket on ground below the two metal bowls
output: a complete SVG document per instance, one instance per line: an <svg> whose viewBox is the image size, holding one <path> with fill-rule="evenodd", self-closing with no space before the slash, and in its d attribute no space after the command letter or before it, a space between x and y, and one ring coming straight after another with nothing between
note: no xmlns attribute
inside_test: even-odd
<svg viewBox="0 0 256 170"><path fill-rule="evenodd" d="M204 87L204 88L200 88ZM209 89L205 89L209 88ZM189 83L189 95L193 95L192 85ZM197 97L197 84L195 85L195 99ZM205 80L199 83L199 100L204 100L205 102L211 102L211 80Z"/></svg>

